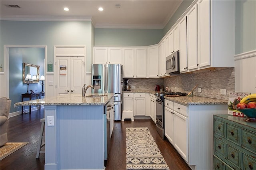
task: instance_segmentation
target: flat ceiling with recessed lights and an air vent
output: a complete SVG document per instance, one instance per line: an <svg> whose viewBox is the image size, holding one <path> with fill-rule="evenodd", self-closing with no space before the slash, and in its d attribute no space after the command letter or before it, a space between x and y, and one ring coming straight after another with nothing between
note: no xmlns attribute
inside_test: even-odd
<svg viewBox="0 0 256 170"><path fill-rule="evenodd" d="M182 0L1 0L1 20L92 21L95 28L162 29ZM120 4L120 8L116 8ZM6 5L18 5L10 8ZM68 7L68 12L63 8ZM104 11L98 11L103 7Z"/></svg>

